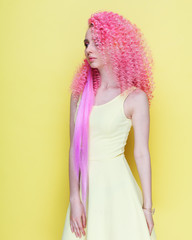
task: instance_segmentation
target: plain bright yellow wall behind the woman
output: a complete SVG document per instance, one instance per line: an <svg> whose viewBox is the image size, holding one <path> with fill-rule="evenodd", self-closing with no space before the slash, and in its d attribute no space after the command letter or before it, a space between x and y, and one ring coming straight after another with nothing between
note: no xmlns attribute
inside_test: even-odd
<svg viewBox="0 0 192 240"><path fill-rule="evenodd" d="M155 230L159 240L190 239L191 7L186 0L1 0L1 240L61 239L69 202L69 85L84 58L87 20L98 10L131 20L152 50ZM133 140L132 129L126 157L139 182Z"/></svg>

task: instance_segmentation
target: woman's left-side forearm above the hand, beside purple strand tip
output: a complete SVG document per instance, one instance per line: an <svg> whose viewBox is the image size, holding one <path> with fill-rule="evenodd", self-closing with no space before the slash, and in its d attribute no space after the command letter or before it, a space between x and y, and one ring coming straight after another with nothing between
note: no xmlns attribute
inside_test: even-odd
<svg viewBox="0 0 192 240"><path fill-rule="evenodd" d="M73 162L72 148L69 151L69 185L70 185L70 202L80 199L80 185L77 180L74 162Z"/></svg>

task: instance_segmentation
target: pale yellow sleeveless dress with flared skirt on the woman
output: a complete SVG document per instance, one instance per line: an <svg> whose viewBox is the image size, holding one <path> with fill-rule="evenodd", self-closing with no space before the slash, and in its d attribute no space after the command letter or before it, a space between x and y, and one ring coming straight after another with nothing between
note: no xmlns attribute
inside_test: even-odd
<svg viewBox="0 0 192 240"><path fill-rule="evenodd" d="M124 155L132 120L123 103L134 89L91 110L86 235L71 232L69 202L62 240L156 240L154 227L149 234L142 192Z"/></svg>

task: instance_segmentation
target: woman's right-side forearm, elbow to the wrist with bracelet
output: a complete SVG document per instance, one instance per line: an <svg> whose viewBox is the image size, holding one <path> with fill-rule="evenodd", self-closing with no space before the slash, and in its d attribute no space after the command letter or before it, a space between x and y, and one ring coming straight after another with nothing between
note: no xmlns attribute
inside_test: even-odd
<svg viewBox="0 0 192 240"><path fill-rule="evenodd" d="M135 156L137 170L139 173L142 192L143 192L143 206L146 208L152 207L152 194L151 194L151 159L149 152Z"/></svg>

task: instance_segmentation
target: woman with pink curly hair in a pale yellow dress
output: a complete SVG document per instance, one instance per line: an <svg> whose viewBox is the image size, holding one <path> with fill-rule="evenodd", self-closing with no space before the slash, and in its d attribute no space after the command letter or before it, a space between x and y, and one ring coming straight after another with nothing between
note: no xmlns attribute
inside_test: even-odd
<svg viewBox="0 0 192 240"><path fill-rule="evenodd" d="M113 12L91 15L84 45L86 58L71 85L70 203L62 240L154 240L152 57L136 25ZM124 155L131 126L143 194Z"/></svg>

